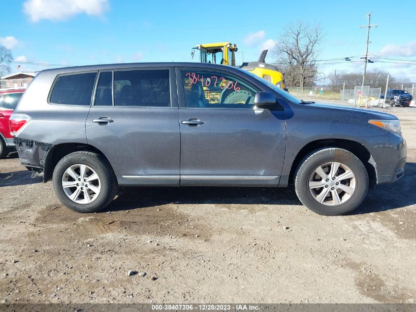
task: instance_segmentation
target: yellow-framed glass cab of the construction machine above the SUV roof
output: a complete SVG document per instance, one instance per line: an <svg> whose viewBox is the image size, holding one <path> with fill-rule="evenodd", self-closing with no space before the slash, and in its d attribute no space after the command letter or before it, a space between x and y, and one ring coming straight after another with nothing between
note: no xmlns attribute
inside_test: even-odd
<svg viewBox="0 0 416 312"><path fill-rule="evenodd" d="M238 48L231 42L198 44L192 48L192 58L195 50L199 50L199 62L235 66L235 52Z"/></svg>

